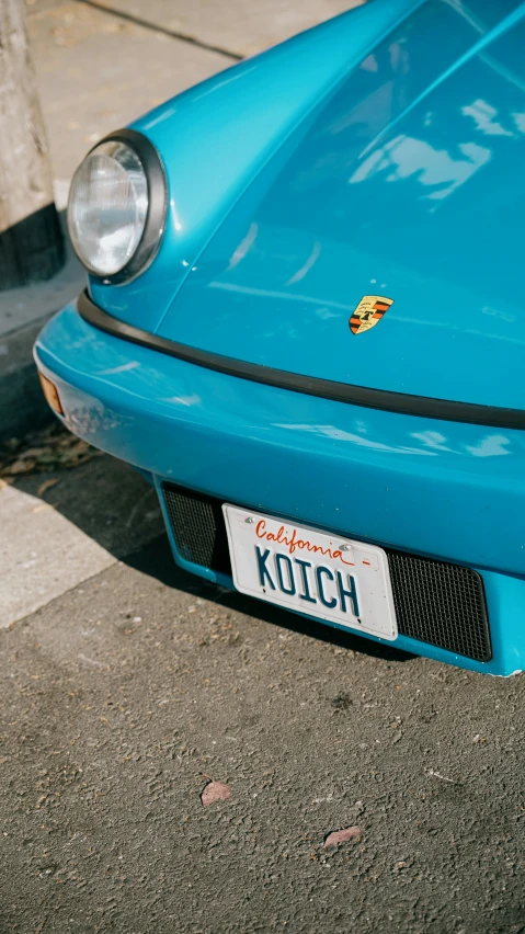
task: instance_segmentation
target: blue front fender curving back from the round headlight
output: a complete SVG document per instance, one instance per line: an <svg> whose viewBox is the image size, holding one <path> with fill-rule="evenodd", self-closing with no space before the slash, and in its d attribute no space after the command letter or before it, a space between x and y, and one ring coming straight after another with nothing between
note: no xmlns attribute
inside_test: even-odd
<svg viewBox="0 0 525 934"><path fill-rule="evenodd" d="M172 98L132 125L164 164L169 210L160 250L137 278L93 300L155 331L187 273L261 169L369 49L422 0L374 0Z"/></svg>

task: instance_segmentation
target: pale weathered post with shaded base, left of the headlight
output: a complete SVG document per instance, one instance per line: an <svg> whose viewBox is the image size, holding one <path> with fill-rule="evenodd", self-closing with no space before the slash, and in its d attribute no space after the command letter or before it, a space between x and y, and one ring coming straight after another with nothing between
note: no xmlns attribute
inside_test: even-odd
<svg viewBox="0 0 525 934"><path fill-rule="evenodd" d="M0 0L0 289L64 262L22 0Z"/></svg>

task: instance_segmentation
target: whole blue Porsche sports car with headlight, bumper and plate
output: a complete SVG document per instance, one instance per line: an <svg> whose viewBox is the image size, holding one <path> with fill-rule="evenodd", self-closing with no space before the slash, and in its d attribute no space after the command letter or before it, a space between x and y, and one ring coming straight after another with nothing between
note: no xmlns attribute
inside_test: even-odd
<svg viewBox="0 0 525 934"><path fill-rule="evenodd" d="M45 395L175 561L525 668L525 4L373 0L99 143Z"/></svg>

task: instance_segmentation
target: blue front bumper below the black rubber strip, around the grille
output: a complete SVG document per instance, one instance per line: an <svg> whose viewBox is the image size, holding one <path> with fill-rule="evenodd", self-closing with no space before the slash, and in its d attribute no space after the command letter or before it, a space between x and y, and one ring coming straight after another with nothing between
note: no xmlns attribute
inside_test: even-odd
<svg viewBox="0 0 525 934"><path fill-rule="evenodd" d="M35 356L58 387L67 426L158 485L173 480L477 569L489 662L404 636L396 645L492 674L525 668L524 432L357 408L215 373L105 334L73 303L45 327Z"/></svg>

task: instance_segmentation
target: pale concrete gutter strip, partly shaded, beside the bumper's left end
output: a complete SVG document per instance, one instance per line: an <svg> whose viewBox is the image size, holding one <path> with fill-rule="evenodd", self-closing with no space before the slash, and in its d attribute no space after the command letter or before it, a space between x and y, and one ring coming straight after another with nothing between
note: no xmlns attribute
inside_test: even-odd
<svg viewBox="0 0 525 934"><path fill-rule="evenodd" d="M52 452L46 434L31 443L43 459ZM163 532L157 493L141 476L67 432L54 436L65 444L55 463L47 455L44 472L0 478L0 629ZM72 468L76 447L87 451Z"/></svg>

